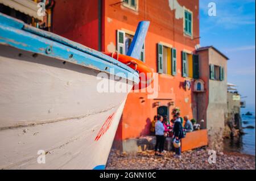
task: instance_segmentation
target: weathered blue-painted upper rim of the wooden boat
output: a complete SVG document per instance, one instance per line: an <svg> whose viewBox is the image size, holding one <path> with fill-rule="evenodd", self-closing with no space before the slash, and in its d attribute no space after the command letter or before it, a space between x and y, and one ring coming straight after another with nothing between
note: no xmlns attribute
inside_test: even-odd
<svg viewBox="0 0 256 181"><path fill-rule="evenodd" d="M0 14L0 20L1 44L43 54L44 56L68 61L109 74L116 75L119 73L119 77L139 83L139 77L136 71L101 52L84 47L81 44L53 33L28 27L24 24L22 26L22 24L20 24L22 22L13 18L6 18L6 15L3 16ZM32 33L33 31L36 33ZM106 67L108 67L108 69L106 69ZM110 71L110 68L114 69L114 73Z"/></svg>

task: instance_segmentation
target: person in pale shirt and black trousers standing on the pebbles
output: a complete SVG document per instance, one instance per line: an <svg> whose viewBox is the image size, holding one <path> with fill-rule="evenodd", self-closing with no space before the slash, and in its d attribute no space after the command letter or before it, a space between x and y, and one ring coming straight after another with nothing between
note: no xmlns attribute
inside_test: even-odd
<svg viewBox="0 0 256 181"><path fill-rule="evenodd" d="M155 145L155 155L162 156L164 148L164 125L162 123L163 116L158 115L158 121L155 123L155 136L156 136L156 145ZM158 153L159 150L159 153Z"/></svg>

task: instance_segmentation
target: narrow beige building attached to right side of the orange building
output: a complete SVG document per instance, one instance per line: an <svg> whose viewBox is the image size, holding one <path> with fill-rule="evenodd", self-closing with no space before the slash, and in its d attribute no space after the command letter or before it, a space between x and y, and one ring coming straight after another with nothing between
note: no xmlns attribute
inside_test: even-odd
<svg viewBox="0 0 256 181"><path fill-rule="evenodd" d="M195 82L194 87L197 121L200 121L201 127L208 130L209 147L223 150L222 135L227 109L226 72L229 58L212 46L199 48L196 52L199 54L201 79L201 82Z"/></svg>

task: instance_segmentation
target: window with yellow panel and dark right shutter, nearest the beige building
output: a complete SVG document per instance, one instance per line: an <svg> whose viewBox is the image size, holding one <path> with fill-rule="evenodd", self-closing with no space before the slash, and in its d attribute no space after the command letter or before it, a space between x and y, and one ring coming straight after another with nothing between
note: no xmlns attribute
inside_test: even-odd
<svg viewBox="0 0 256 181"><path fill-rule="evenodd" d="M182 77L199 78L199 56L182 52Z"/></svg>

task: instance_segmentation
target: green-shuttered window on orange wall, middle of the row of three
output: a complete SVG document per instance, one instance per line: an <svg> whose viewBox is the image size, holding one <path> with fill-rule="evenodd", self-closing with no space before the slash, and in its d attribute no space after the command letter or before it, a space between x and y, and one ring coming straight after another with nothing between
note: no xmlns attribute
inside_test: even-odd
<svg viewBox="0 0 256 181"><path fill-rule="evenodd" d="M158 44L158 73L176 75L176 49Z"/></svg>

